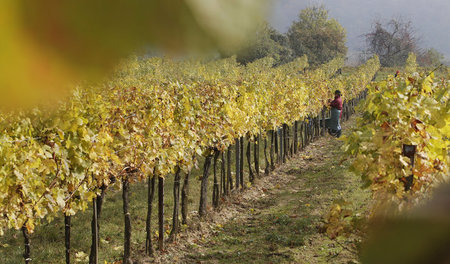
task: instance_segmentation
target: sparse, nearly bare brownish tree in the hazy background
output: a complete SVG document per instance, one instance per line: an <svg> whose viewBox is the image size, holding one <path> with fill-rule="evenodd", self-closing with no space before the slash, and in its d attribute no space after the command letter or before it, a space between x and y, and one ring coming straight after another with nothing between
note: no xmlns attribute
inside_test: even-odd
<svg viewBox="0 0 450 264"><path fill-rule="evenodd" d="M364 35L366 55L378 55L381 66L403 66L410 52L418 52L418 39L410 21L391 19L383 24L374 22L371 32Z"/></svg>

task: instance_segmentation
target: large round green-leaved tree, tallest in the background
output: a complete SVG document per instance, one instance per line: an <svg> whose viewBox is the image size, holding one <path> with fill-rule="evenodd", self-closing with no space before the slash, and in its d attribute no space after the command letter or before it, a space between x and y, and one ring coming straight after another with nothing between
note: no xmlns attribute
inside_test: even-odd
<svg viewBox="0 0 450 264"><path fill-rule="evenodd" d="M322 6L303 9L287 33L295 57L307 55L310 65L319 65L347 53L346 31L329 18Z"/></svg>

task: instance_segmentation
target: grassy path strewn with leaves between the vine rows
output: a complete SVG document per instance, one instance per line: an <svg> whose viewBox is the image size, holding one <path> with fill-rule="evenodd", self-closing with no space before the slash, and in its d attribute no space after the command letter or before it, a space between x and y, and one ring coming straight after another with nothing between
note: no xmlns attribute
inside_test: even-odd
<svg viewBox="0 0 450 264"><path fill-rule="evenodd" d="M343 124L355 124L355 116ZM344 132L345 133L345 132ZM157 263L358 263L361 237L332 240L320 232L333 201L367 213L368 190L348 171L342 142L321 137L298 155L224 201L207 221L191 219ZM145 262L145 260L144 260Z"/></svg>

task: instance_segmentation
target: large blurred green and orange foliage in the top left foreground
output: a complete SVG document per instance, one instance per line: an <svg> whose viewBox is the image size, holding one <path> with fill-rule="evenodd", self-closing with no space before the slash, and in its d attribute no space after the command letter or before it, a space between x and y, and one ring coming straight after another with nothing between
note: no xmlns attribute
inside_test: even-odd
<svg viewBox="0 0 450 264"><path fill-rule="evenodd" d="M0 105L48 101L139 50L235 49L264 7L259 0L3 0Z"/></svg>

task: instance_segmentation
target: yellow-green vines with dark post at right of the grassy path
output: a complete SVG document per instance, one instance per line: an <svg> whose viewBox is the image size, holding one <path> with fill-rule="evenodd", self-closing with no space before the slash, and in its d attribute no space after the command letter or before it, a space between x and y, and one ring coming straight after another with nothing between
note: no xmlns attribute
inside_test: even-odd
<svg viewBox="0 0 450 264"><path fill-rule="evenodd" d="M369 86L345 149L373 191L374 212L424 203L449 182L449 84L448 75L419 69L410 54L404 73Z"/></svg>

